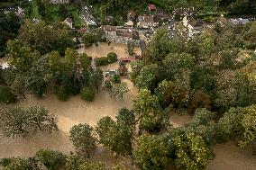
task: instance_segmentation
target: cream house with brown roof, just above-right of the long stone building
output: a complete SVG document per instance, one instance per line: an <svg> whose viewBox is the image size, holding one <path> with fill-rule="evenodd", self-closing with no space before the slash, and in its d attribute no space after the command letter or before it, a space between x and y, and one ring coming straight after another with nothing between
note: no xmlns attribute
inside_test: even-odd
<svg viewBox="0 0 256 170"><path fill-rule="evenodd" d="M150 28L150 27L157 27L159 26L159 22L154 15L140 15L138 17L137 26L139 28Z"/></svg>

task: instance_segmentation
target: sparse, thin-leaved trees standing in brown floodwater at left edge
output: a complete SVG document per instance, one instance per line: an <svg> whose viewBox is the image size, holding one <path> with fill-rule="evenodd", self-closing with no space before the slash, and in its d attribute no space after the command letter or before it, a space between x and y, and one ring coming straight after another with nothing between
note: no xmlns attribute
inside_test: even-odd
<svg viewBox="0 0 256 170"><path fill-rule="evenodd" d="M58 130L56 118L43 107L9 106L0 111L0 129L7 137L19 137L37 130Z"/></svg>

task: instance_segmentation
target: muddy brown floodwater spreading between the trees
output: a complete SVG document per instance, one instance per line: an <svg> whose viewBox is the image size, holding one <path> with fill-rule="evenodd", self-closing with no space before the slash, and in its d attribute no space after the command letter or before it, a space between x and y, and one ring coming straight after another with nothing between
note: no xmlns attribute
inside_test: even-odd
<svg viewBox="0 0 256 170"><path fill-rule="evenodd" d="M114 51L118 58L129 57L127 47L121 44L99 43L87 49L78 49L79 53L86 52L92 58L106 56L108 52ZM136 48L137 54L141 54L141 50ZM0 59L1 62L5 60ZM118 63L101 67L102 69L115 69ZM129 67L129 65L128 65ZM73 125L86 122L91 126L95 126L96 122L102 117L108 115L114 118L116 112L123 107L131 108L133 98L138 93L138 89L133 86L133 83L128 79L123 79L131 92L126 94L122 101L114 101L109 94L100 91L96 94L96 99L93 103L84 102L79 96L70 97L68 102L60 102L54 94L46 94L46 96L37 100L29 97L17 105L31 106L41 105L47 108L50 113L58 116L59 131L53 133L39 132L35 135L25 138L5 138L0 136L0 158L1 157L30 157L40 148L51 148L64 153L73 151L72 144L69 141L69 130ZM171 112L170 122L174 127L182 126L191 120L189 115L179 116ZM256 169L256 159L251 156L250 148L241 150L237 148L233 142L225 144L217 144L213 147L216 157L208 166L208 170L254 170ZM106 165L120 164L134 169L129 157L112 157L110 152L99 146L96 149L95 156L92 160L102 161ZM171 169L172 168L167 168Z"/></svg>

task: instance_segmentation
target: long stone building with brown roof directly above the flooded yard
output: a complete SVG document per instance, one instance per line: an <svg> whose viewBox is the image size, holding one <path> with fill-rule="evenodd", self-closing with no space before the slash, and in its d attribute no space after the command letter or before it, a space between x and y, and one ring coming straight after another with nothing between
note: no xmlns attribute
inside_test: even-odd
<svg viewBox="0 0 256 170"><path fill-rule="evenodd" d="M133 29L126 29L123 27L102 25L101 30L104 32L104 38L109 42L127 44L133 42L139 45L140 37L139 32Z"/></svg>

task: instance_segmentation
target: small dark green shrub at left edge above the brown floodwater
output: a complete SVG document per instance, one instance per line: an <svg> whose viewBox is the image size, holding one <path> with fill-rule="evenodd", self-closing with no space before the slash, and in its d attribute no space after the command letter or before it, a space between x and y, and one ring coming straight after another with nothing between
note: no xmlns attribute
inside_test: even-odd
<svg viewBox="0 0 256 170"><path fill-rule="evenodd" d="M6 86L0 86L0 103L15 103L16 96L12 94L10 88Z"/></svg>

